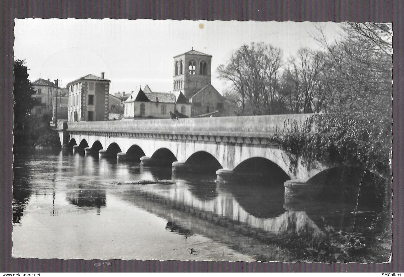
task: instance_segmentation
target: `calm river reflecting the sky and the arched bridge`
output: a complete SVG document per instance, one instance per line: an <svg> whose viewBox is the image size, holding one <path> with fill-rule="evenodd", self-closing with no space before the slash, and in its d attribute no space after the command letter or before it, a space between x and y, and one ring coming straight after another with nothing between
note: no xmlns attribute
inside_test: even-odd
<svg viewBox="0 0 404 277"><path fill-rule="evenodd" d="M73 153L16 152L13 257L382 262L380 208L284 197L282 183L215 182ZM141 181L141 182L139 182ZM382 245L382 246L381 246Z"/></svg>

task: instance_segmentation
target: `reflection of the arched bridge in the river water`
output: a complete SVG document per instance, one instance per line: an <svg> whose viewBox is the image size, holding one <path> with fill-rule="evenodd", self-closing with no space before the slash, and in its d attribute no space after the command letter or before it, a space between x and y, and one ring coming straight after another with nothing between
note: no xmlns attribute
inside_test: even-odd
<svg viewBox="0 0 404 277"><path fill-rule="evenodd" d="M264 196L271 192L283 196L282 187L275 190L261 187L259 192ZM282 255L289 251L278 247L282 240L324 236L323 230L305 211L286 210L283 198L269 203L252 203L248 207L247 202L251 200L246 200L248 195L237 197L235 194L237 189L225 184L196 185L178 180L173 185L133 185L119 195L166 219L170 225L166 229L179 230L178 233L185 236L199 234L222 241L245 254L262 253L259 260L273 260L274 257L282 260ZM260 205L261 208L254 208ZM287 255L291 254L288 252Z"/></svg>

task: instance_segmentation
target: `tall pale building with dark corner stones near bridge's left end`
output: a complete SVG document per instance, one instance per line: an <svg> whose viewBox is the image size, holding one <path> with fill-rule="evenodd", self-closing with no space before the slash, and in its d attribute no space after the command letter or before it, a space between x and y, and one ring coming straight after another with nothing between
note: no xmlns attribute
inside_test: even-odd
<svg viewBox="0 0 404 277"><path fill-rule="evenodd" d="M104 72L101 77L88 74L68 83L68 122L108 120L109 83Z"/></svg>

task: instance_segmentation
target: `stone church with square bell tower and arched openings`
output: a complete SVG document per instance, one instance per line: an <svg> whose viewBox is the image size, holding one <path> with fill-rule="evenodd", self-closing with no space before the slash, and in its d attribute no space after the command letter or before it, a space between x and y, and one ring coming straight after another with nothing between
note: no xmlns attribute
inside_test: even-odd
<svg viewBox="0 0 404 277"><path fill-rule="evenodd" d="M191 104L191 116L217 115L223 108L224 98L211 84L212 56L191 51L174 57L175 93L182 92Z"/></svg>

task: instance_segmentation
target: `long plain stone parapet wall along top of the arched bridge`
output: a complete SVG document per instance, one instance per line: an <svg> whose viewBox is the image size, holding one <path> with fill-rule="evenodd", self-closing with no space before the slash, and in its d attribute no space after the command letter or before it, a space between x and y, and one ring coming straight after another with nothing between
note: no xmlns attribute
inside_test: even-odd
<svg viewBox="0 0 404 277"><path fill-rule="evenodd" d="M70 122L68 131L267 137L301 128L313 114ZM286 127L286 128L285 128Z"/></svg>

